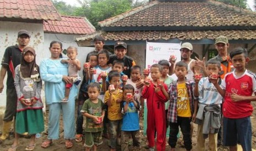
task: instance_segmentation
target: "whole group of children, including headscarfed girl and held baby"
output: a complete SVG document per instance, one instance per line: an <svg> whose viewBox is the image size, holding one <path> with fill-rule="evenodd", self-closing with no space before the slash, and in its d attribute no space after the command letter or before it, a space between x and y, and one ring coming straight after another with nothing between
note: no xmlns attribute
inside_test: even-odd
<svg viewBox="0 0 256 151"><path fill-rule="evenodd" d="M76 55L77 49L70 47L68 48L69 60L63 61L72 66L73 69L69 73L74 78L78 77L77 72L80 70L80 63L75 58ZM186 78L188 65L179 61L175 66L175 74L178 79L172 80L168 77L169 63L167 60L161 60L158 64L151 65L150 71L144 69L144 76L141 76L142 70L139 66L133 66L130 68L130 78L127 79L122 72L124 68L122 61L114 61L110 66L108 65L110 58L108 51L101 50L99 53L91 53L89 62L84 63L85 81L83 81L83 83L87 83L86 89L89 98L84 102L80 111L86 117L84 130L86 150L90 150L91 147L93 150L97 149L97 146L102 143L104 129L110 135L108 144L110 150L116 150L119 137L121 137L121 150L128 150L130 138L133 140L133 146L140 147L139 114L143 112L139 111L141 106L144 107L144 99L146 99L148 109L146 136L149 150L154 150L155 137L156 150L165 150L168 126L170 126L168 144L171 146L171 150L175 150L179 127L183 134L184 147L186 150L192 150L191 122L198 124L198 150L205 149L204 142L208 137L209 149L216 150L217 132L221 124L220 104L222 98L224 98L224 144L231 146L231 150L236 149L232 146L236 146L239 140L244 150L250 150L252 135L250 115L253 111L250 101L256 100L255 96L252 96L256 92L255 74L245 68L249 61L245 49L233 50L230 57L235 71L228 73L224 80L221 80L218 75L221 71L219 61L206 63L209 77L195 77L194 80ZM15 77L19 100L27 107L40 109L40 112L37 113L35 110L36 113L33 114L39 116L40 123L42 123L42 104L41 101L36 101L40 98L41 80L39 68L35 64L34 49L25 49L23 60L21 66L16 69ZM30 71L34 69L34 71L28 73L26 68ZM35 69L38 71L36 72ZM26 74L32 73L35 73L35 76L32 76L34 78L31 78L31 75L25 77ZM28 82L34 84L33 89L29 88L31 84L27 84ZM143 84L143 87L138 86L139 83ZM28 88L23 88L24 84ZM66 86L63 102L68 101L68 88L70 87L70 85ZM26 102L28 100L25 98L30 98L30 102ZM20 111L23 111L23 108L20 108ZM21 127L23 126L21 125ZM43 127L39 127L33 130L33 133L42 130ZM25 132L18 129L16 131ZM35 136L32 137L26 150L34 149L34 139Z"/></svg>

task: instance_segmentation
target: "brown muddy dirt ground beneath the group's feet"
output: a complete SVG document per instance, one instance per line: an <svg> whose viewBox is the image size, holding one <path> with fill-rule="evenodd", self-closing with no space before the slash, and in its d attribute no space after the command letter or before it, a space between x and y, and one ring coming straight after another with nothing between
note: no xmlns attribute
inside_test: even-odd
<svg viewBox="0 0 256 151"><path fill-rule="evenodd" d="M253 102L252 103L253 106L255 107L256 106L256 102ZM47 112L45 113L45 117L47 117ZM256 132L255 132L255 129L256 129L256 112L254 111L253 112L253 115L251 117L252 119L252 148L256 148ZM133 150L133 151L136 151L136 150L147 150L145 148L146 146L146 143L147 143L147 140L146 140L146 137L143 136L143 124L142 124L142 119L140 120L141 123L140 123L140 132L141 132L141 148L133 148L132 146L130 146L130 150ZM62 125L62 124L61 124ZM0 126L1 130L2 130L2 125ZM45 130L47 130L47 118L45 118ZM64 144L64 138L63 138L63 129L61 127L60 129L60 133L59 133L59 140L55 140L53 141L53 144L52 146L50 146L49 148L46 148L46 149L43 149L41 148L41 143L47 138L47 133L46 131L41 133L41 137L40 138L37 138L36 140L36 148L35 150L44 150L44 151L52 151L52 150L84 150L84 147L83 147L83 142L80 142L80 143L77 143L75 141L73 141L73 144L74 146L70 149L66 149L65 148L65 144ZM0 150L8 150L8 148L12 145L13 143L13 140L14 140L14 136L13 135L10 135L10 138L7 139L6 141L4 141L3 143L0 144ZM177 142L177 146L176 146L176 151L183 151L183 150L186 150L185 148L182 147L182 139L179 138L178 139L178 142ZM19 147L17 148L17 150L25 150L26 146L28 145L29 143L29 138L20 138L20 141L19 141ZM108 143L108 140L106 140L104 138L104 143L101 144L101 146L98 147L97 150L102 150L102 151L105 151L105 150L110 150L107 146L107 143ZM192 138L192 143L193 143L193 149L192 150L197 150L197 125L194 124L194 133L193 133L193 138ZM206 150L208 150L208 147L207 147L207 144L208 144L208 140L206 140ZM120 147L117 148L117 150L121 150ZM170 146L166 146L166 150L170 150ZM227 147L219 147L218 148L219 151L225 151L225 150L228 150Z"/></svg>

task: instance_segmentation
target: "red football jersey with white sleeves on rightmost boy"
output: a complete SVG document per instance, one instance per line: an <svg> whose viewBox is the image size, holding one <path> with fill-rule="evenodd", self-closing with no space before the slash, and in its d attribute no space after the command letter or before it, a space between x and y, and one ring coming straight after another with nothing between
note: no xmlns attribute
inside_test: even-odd
<svg viewBox="0 0 256 151"><path fill-rule="evenodd" d="M256 75L253 72L246 70L240 77L235 75L235 71L227 73L221 87L226 89L222 107L224 117L238 119L252 115L253 107L250 101L234 102L231 100L231 94L252 96L253 92L256 92Z"/></svg>

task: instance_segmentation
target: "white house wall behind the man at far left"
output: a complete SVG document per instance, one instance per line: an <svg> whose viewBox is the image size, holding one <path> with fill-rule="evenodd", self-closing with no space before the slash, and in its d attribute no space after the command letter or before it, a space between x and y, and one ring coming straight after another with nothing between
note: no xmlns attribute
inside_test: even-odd
<svg viewBox="0 0 256 151"><path fill-rule="evenodd" d="M2 60L4 50L10 45L17 44L19 30L27 30L31 34L29 45L36 50L37 64L46 57L43 52L43 24L0 21L0 59ZM0 67L2 67L0 65ZM6 79L4 79L4 90L0 94L0 106L6 106Z"/></svg>

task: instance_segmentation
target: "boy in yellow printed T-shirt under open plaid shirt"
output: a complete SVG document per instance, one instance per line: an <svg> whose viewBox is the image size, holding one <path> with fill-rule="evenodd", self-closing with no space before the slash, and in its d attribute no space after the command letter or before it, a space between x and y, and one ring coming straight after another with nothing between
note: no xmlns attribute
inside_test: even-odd
<svg viewBox="0 0 256 151"><path fill-rule="evenodd" d="M176 63L175 74L178 79L169 86L168 95L170 105L167 118L170 124L169 145L171 150L175 150L177 143L178 127L181 127L184 146L186 150L192 150L192 140L190 137L190 122L194 121L197 113L197 100L194 98L195 82L188 80L188 65L182 61Z"/></svg>

